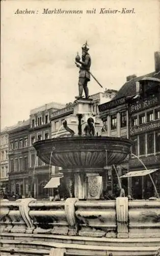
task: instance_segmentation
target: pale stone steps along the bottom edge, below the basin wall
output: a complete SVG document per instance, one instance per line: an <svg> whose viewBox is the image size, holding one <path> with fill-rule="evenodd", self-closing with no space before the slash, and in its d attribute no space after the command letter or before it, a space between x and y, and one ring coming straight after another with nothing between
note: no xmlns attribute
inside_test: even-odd
<svg viewBox="0 0 160 256"><path fill-rule="evenodd" d="M117 240L118 241L118 240ZM37 250L50 250L50 248L66 248L66 256L69 255L109 255L113 253L114 256L153 256L158 250L159 246L119 246L118 242L116 246L102 246L102 245L86 245L86 244L70 244L70 243L56 243L45 242L37 240L10 240L2 239L2 247L10 246L15 249L25 248L26 252L28 248Z"/></svg>

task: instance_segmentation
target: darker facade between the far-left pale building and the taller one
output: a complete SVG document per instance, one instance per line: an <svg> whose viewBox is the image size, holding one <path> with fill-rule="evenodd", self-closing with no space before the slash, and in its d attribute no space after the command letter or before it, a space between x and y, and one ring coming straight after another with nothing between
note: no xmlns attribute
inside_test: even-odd
<svg viewBox="0 0 160 256"><path fill-rule="evenodd" d="M9 131L9 193L29 193L29 120L20 121Z"/></svg>

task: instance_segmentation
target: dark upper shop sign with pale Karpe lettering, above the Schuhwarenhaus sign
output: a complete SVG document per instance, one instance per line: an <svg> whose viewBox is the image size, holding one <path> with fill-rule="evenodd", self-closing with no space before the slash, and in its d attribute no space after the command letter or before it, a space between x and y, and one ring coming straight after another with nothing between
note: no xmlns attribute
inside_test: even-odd
<svg viewBox="0 0 160 256"><path fill-rule="evenodd" d="M160 98L159 95L155 95L154 97L150 97L147 99L137 100L134 104L131 104L129 106L130 114L141 112L145 109L149 109L152 106L159 104L160 103L159 98Z"/></svg>

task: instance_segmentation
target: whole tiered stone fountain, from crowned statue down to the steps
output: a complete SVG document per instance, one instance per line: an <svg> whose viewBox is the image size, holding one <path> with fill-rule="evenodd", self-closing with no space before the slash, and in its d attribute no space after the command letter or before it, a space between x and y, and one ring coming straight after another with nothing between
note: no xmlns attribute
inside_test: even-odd
<svg viewBox="0 0 160 256"><path fill-rule="evenodd" d="M88 53L87 44L84 47ZM77 57L76 65L77 61L83 65L86 56L83 61ZM160 202L129 201L123 193L116 200L103 199L104 166L120 164L130 153L131 144L127 139L95 133L93 102L86 89L89 75L82 79L85 71L83 68L79 73L79 96L73 104L77 133L65 121L67 137L34 143L43 162L62 167L69 197L55 202L2 200L2 255L159 255ZM82 85L86 98L82 97ZM84 116L87 124L82 122Z"/></svg>

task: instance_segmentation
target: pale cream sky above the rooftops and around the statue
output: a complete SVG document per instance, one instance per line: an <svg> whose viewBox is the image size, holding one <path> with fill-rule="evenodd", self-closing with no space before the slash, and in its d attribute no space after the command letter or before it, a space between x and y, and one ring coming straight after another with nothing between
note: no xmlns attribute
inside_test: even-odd
<svg viewBox="0 0 160 256"><path fill-rule="evenodd" d="M1 2L1 127L28 119L30 110L55 101L73 102L78 95L77 52L86 40L94 79L89 95L119 90L126 76L154 71L159 51L159 1ZM14 14L19 10L35 14ZM83 10L83 14L42 14L43 9ZM130 14L99 13L100 8L132 9ZM95 14L86 10L96 9Z"/></svg>

